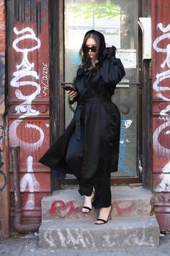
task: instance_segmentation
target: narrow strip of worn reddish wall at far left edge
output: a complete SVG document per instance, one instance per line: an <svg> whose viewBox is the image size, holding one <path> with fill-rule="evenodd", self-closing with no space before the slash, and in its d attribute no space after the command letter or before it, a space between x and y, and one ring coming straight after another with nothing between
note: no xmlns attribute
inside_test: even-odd
<svg viewBox="0 0 170 256"><path fill-rule="evenodd" d="M0 236L9 236L9 185L6 149L6 119L4 119L5 102L5 1L0 1Z"/></svg>

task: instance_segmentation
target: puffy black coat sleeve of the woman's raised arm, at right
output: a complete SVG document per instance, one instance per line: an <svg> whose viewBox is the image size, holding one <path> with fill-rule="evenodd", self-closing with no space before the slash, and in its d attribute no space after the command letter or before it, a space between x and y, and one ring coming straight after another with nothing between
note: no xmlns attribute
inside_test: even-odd
<svg viewBox="0 0 170 256"><path fill-rule="evenodd" d="M104 62L102 65L102 78L109 87L116 87L117 83L125 76L125 69L120 59L115 57L115 47L104 49Z"/></svg>

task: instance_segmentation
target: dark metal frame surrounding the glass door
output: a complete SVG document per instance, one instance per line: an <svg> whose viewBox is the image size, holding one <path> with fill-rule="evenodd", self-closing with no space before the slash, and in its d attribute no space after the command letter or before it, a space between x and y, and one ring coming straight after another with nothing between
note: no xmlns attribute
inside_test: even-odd
<svg viewBox="0 0 170 256"><path fill-rule="evenodd" d="M148 0L138 0L138 17L148 16ZM55 17L55 19L54 19ZM64 0L51 1L51 51L50 63L52 68L51 72L51 141L59 137L65 129L65 106L64 106L64 93L61 88L61 82L64 80ZM151 161L148 155L151 155L151 120L149 113L151 111L150 99L151 81L149 80L149 61L142 60L142 33L138 27L138 80L141 84L139 93L139 108L138 108L138 127L142 126L138 134L138 165L141 164L143 170L138 171L136 177L114 177L111 179L112 184L131 184L143 182L144 187L149 187L150 183L150 170ZM145 84L145 86L143 86ZM147 86L148 85L148 86ZM140 126L139 126L140 125ZM143 136L144 135L144 136ZM73 185L77 184L76 179L65 179L65 175L56 174L52 171L52 179L54 180L54 187L60 187L61 184Z"/></svg>

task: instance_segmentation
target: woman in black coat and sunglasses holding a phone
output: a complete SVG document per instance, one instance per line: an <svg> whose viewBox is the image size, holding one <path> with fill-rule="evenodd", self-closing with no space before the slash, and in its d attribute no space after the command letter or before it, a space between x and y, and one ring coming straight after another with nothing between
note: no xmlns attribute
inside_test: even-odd
<svg viewBox="0 0 170 256"><path fill-rule="evenodd" d="M96 30L84 36L80 56L76 92L67 91L78 103L75 114L40 162L74 174L85 195L82 212L89 213L93 205L100 209L95 224L104 224L111 212L110 173L117 171L120 143L120 112L111 96L125 70L115 47L106 48L104 35Z"/></svg>

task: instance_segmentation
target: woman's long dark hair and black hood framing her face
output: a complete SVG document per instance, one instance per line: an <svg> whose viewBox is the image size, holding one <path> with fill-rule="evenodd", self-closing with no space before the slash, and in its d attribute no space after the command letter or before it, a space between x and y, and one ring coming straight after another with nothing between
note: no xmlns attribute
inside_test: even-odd
<svg viewBox="0 0 170 256"><path fill-rule="evenodd" d="M89 57L88 53L84 51L84 47L86 46L86 40L88 38L93 38L97 44L97 53L92 59ZM85 69L91 69L93 67L97 68L99 66L98 65L99 59L102 58L102 53L104 51L104 48L106 48L104 35L102 35L102 33L99 33L96 30L89 30L84 35L84 40L79 51L80 58L81 58L81 66L84 67Z"/></svg>

